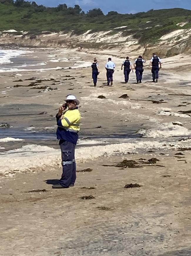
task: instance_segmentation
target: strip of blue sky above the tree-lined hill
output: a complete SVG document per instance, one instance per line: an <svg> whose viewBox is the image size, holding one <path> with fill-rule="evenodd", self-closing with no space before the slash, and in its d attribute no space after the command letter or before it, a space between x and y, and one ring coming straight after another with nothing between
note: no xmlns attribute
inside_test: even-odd
<svg viewBox="0 0 191 256"><path fill-rule="evenodd" d="M191 9L191 0L36 0L36 3L52 7L64 3L66 3L68 7L79 4L85 12L93 8L100 8L105 14L109 11L136 13L145 12L150 9L177 7Z"/></svg>

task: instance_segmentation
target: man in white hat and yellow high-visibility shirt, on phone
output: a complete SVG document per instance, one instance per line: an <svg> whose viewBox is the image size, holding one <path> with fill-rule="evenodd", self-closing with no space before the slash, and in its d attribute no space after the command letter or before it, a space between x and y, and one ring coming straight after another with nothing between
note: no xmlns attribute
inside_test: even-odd
<svg viewBox="0 0 191 256"><path fill-rule="evenodd" d="M76 181L76 162L75 146L80 131L80 112L77 105L79 100L74 95L68 95L66 104L63 104L56 115L57 120L57 139L62 155L62 176L59 184L53 185L52 188L73 187Z"/></svg>

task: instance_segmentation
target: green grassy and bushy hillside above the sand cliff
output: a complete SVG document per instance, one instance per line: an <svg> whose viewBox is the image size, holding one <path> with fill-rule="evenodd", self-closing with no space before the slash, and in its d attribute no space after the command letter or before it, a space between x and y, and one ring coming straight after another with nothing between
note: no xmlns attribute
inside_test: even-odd
<svg viewBox="0 0 191 256"><path fill-rule="evenodd" d="M184 27L177 23L188 22ZM93 9L87 14L80 6L67 8L60 5L57 8L38 6L23 0L0 0L0 31L15 29L17 31L66 31L73 30L77 35L92 30L92 32L112 30L115 27L126 26L110 32L113 35L119 31L123 35L134 34L140 43L153 42L162 35L176 29L191 28L191 11L175 8L150 10L136 14L118 14L109 12L104 15L100 9Z"/></svg>

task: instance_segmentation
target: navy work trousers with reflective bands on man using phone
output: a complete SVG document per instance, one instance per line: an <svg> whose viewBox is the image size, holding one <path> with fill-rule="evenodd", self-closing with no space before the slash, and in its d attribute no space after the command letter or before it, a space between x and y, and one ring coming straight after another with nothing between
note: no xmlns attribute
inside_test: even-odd
<svg viewBox="0 0 191 256"><path fill-rule="evenodd" d="M68 187L76 181L75 144L70 141L60 140L59 145L62 154L62 177L60 185Z"/></svg>

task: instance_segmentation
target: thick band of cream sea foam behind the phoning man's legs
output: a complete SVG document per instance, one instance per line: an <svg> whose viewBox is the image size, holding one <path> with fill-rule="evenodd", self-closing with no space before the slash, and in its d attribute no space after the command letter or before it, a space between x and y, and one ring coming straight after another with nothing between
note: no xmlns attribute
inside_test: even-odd
<svg viewBox="0 0 191 256"><path fill-rule="evenodd" d="M183 142L185 144L185 141ZM115 154L136 153L155 148L162 150L177 149L182 142L172 143L167 141L136 141L129 143L109 144L103 146L86 146L76 149L76 161L96 159L101 156ZM19 149L0 153L1 175L13 175L16 172L42 171L46 168L61 167L61 154L59 149L48 146L25 145Z"/></svg>

